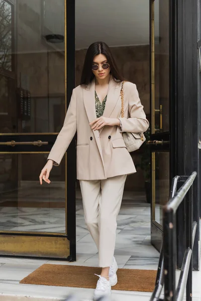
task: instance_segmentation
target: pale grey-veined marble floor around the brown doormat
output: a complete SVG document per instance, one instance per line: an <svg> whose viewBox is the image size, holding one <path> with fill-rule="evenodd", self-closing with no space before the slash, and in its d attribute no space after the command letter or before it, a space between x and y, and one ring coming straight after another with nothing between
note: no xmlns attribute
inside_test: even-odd
<svg viewBox="0 0 201 301"><path fill-rule="evenodd" d="M12 211L12 207L2 208L0 216L3 213L2 210L5 211L2 214L3 221L1 217L0 225L3 223L5 226L8 223L9 229L11 227L19 229L21 223L21 227L26 225L26 227L30 226L29 229L36 229L34 225L36 225L35 216L37 216L37 212L34 215L32 210L38 210L38 208L24 209L25 211L22 212L21 216L18 215L16 217L17 225L11 225L11 221L15 219L16 212ZM60 214L63 212L63 209L54 209L52 211L53 216L50 216L50 211L46 212L47 216L43 209L47 208L40 209L40 219L37 220L37 223L40 226L43 225L44 229L54 231L53 227L61 220ZM18 214L20 213L18 212ZM52 227L50 227L53 218L55 220ZM62 229L63 225L60 224L58 227ZM0 257L0 301L61 301L70 293L82 301L92 300L93 289L19 283L21 279L44 263L97 266L97 249L84 223L83 207L79 192L77 192L76 200L76 240L76 262ZM122 207L118 216L115 257L120 268L157 269L159 252L150 243L150 205L146 203L144 195L124 193ZM201 273L193 272L193 301L201 300L200 281ZM113 291L112 300L148 301L150 296L151 293L146 292Z"/></svg>

